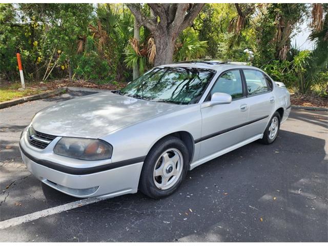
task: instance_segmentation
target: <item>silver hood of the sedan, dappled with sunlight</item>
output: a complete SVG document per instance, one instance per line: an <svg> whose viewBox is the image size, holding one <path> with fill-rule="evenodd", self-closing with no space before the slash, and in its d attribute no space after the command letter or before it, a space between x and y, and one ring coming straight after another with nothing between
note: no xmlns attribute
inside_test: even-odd
<svg viewBox="0 0 328 246"><path fill-rule="evenodd" d="M36 131L55 136L99 138L181 107L186 106L104 92L43 109L35 115L32 125Z"/></svg>

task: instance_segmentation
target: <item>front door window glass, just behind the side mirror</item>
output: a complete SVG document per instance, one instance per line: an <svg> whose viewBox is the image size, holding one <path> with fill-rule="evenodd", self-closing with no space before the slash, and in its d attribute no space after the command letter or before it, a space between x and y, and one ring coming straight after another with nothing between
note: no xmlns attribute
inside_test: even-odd
<svg viewBox="0 0 328 246"><path fill-rule="evenodd" d="M216 80L211 96L215 92L222 92L231 95L232 99L242 97L242 82L239 70L231 70L224 72Z"/></svg>

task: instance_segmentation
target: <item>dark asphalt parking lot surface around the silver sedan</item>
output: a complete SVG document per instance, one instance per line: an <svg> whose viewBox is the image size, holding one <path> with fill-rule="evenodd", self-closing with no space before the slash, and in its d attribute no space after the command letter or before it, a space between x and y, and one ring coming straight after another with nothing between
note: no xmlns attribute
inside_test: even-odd
<svg viewBox="0 0 328 246"><path fill-rule="evenodd" d="M34 178L18 140L37 111L85 94L0 110L0 224L79 200ZM137 193L77 206L4 228L0 241L326 242L327 119L293 109L274 144L254 142L204 163L168 198Z"/></svg>

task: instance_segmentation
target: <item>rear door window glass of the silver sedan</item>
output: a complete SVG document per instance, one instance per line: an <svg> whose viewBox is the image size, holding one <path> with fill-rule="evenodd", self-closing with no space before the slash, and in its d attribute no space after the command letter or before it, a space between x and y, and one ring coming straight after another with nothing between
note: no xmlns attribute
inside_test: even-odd
<svg viewBox="0 0 328 246"><path fill-rule="evenodd" d="M249 95L256 95L269 91L264 74L256 70L243 70Z"/></svg>

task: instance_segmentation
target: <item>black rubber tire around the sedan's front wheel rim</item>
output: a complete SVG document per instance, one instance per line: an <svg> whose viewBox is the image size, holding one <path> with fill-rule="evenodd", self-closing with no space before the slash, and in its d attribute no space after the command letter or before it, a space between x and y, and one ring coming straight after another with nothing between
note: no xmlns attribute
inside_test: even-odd
<svg viewBox="0 0 328 246"><path fill-rule="evenodd" d="M180 151L183 157L183 160L181 161L183 162L182 171L179 177L178 175L176 175L178 177L177 181L175 181L174 185L171 188L166 190L161 190L155 185L154 169L158 163L157 160L161 156L161 154L172 148ZM145 195L154 199L159 199L171 195L181 185L182 180L186 178L188 165L189 165L189 152L186 145L183 143L181 139L174 136L167 136L159 140L149 151L145 159L144 166L142 167L140 180L139 180L139 190Z"/></svg>

